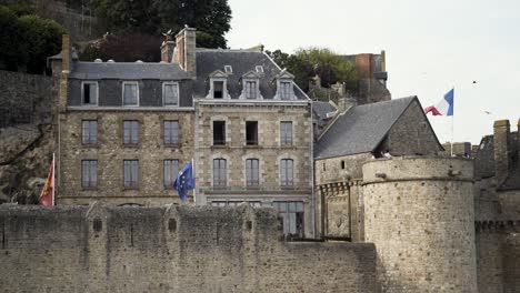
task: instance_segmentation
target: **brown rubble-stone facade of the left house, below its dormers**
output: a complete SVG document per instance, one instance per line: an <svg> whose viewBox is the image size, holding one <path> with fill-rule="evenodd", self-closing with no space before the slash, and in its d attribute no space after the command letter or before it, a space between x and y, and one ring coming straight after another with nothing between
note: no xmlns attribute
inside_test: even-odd
<svg viewBox="0 0 520 293"><path fill-rule="evenodd" d="M78 110L64 115L61 124L57 204L88 204L99 201L108 205L139 204L157 206L180 202L173 186L163 184L164 160L178 160L184 165L193 158L193 112L136 111L136 110ZM98 143L81 143L81 122L98 122ZM123 143L123 121L139 123L139 139L136 145ZM179 143L164 144L163 121L179 121ZM81 161L98 161L98 185L81 186ZM139 185L126 189L123 185L123 160L139 161Z"/></svg>

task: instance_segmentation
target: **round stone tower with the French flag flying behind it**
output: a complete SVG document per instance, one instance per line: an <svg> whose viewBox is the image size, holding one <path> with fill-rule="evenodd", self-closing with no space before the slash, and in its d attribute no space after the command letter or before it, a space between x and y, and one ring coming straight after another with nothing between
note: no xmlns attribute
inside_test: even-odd
<svg viewBox="0 0 520 293"><path fill-rule="evenodd" d="M382 292L478 292L473 162L404 156L362 169Z"/></svg>

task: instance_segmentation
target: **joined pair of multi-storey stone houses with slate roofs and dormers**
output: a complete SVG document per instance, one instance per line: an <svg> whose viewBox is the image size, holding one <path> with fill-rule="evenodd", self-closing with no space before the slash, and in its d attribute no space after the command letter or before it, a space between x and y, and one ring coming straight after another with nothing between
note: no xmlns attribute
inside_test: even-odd
<svg viewBox="0 0 520 293"><path fill-rule="evenodd" d="M288 234L313 235L312 113L293 75L260 50L196 48L183 29L160 63L80 62L61 78L58 204L179 203L194 162L197 204L273 206Z"/></svg>

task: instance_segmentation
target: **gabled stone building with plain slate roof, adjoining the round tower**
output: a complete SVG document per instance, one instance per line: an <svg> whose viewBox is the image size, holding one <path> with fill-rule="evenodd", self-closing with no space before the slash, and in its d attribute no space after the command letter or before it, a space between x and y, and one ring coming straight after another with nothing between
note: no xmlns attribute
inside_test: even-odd
<svg viewBox="0 0 520 293"><path fill-rule="evenodd" d="M363 105L343 99L314 146L318 230L362 241L361 165L374 158L436 155L442 150L417 97Z"/></svg>

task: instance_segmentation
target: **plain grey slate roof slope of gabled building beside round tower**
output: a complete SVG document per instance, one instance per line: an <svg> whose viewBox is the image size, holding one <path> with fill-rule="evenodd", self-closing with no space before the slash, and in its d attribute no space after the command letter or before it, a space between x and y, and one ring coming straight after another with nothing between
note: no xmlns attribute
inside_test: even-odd
<svg viewBox="0 0 520 293"><path fill-rule="evenodd" d="M357 105L338 117L314 145L314 159L372 152L417 97Z"/></svg>

